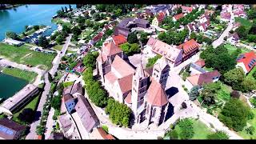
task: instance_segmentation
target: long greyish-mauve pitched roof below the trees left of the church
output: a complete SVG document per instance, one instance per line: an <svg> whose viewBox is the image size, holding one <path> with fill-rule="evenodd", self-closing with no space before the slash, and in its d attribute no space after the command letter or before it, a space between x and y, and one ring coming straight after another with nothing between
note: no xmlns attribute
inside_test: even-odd
<svg viewBox="0 0 256 144"><path fill-rule="evenodd" d="M95 126L99 125L99 120L94 110L90 106L87 98L82 95L78 96L78 103L75 105L75 110L81 118L82 125L89 133Z"/></svg>

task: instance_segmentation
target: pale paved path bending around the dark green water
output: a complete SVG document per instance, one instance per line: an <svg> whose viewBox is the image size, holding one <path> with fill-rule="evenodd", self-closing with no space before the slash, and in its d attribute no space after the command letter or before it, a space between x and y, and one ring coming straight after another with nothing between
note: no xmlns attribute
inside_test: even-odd
<svg viewBox="0 0 256 144"><path fill-rule="evenodd" d="M28 67L26 65L18 64L16 62L11 62L7 59L1 59L0 65L12 66L12 67L18 68L20 70L26 70L26 71L31 71L31 72L37 73L38 76L35 78L35 80L33 82L33 84L35 86L38 86L40 84L42 75L45 74L45 72L46 72L46 70L41 70L38 67Z"/></svg>

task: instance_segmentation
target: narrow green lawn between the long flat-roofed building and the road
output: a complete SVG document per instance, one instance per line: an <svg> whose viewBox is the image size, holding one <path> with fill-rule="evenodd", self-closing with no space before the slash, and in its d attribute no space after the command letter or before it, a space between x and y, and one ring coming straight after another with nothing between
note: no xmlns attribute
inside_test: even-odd
<svg viewBox="0 0 256 144"><path fill-rule="evenodd" d="M35 111L37 109L37 107L38 107L38 102L39 102L40 95L41 95L41 93L39 93L31 102L29 102L25 107L23 107L22 110L30 108L30 109ZM18 112L16 112L14 114L12 119L15 122L24 123L24 122L21 122L18 119L18 114L20 114L22 112L22 110L19 110Z"/></svg>

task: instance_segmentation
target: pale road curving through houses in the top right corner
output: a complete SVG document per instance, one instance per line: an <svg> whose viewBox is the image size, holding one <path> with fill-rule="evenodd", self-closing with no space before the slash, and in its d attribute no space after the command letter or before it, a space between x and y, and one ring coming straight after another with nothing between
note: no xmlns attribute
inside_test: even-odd
<svg viewBox="0 0 256 144"><path fill-rule="evenodd" d="M230 9L232 9L231 6L230 6ZM221 36L212 43L214 48L222 44L224 38L229 35L229 32L233 27L234 14L231 10L230 10L230 14L231 14L231 18L230 18L230 22L228 23L228 26L226 27L226 30L224 30Z"/></svg>

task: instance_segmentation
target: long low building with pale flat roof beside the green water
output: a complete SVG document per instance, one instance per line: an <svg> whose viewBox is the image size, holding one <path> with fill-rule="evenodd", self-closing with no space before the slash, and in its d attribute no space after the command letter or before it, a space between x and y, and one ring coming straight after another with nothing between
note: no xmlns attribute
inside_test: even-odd
<svg viewBox="0 0 256 144"><path fill-rule="evenodd" d="M38 86L28 84L13 97L6 99L0 106L0 112L12 115L15 110L19 110L22 106L25 106L38 93Z"/></svg>

